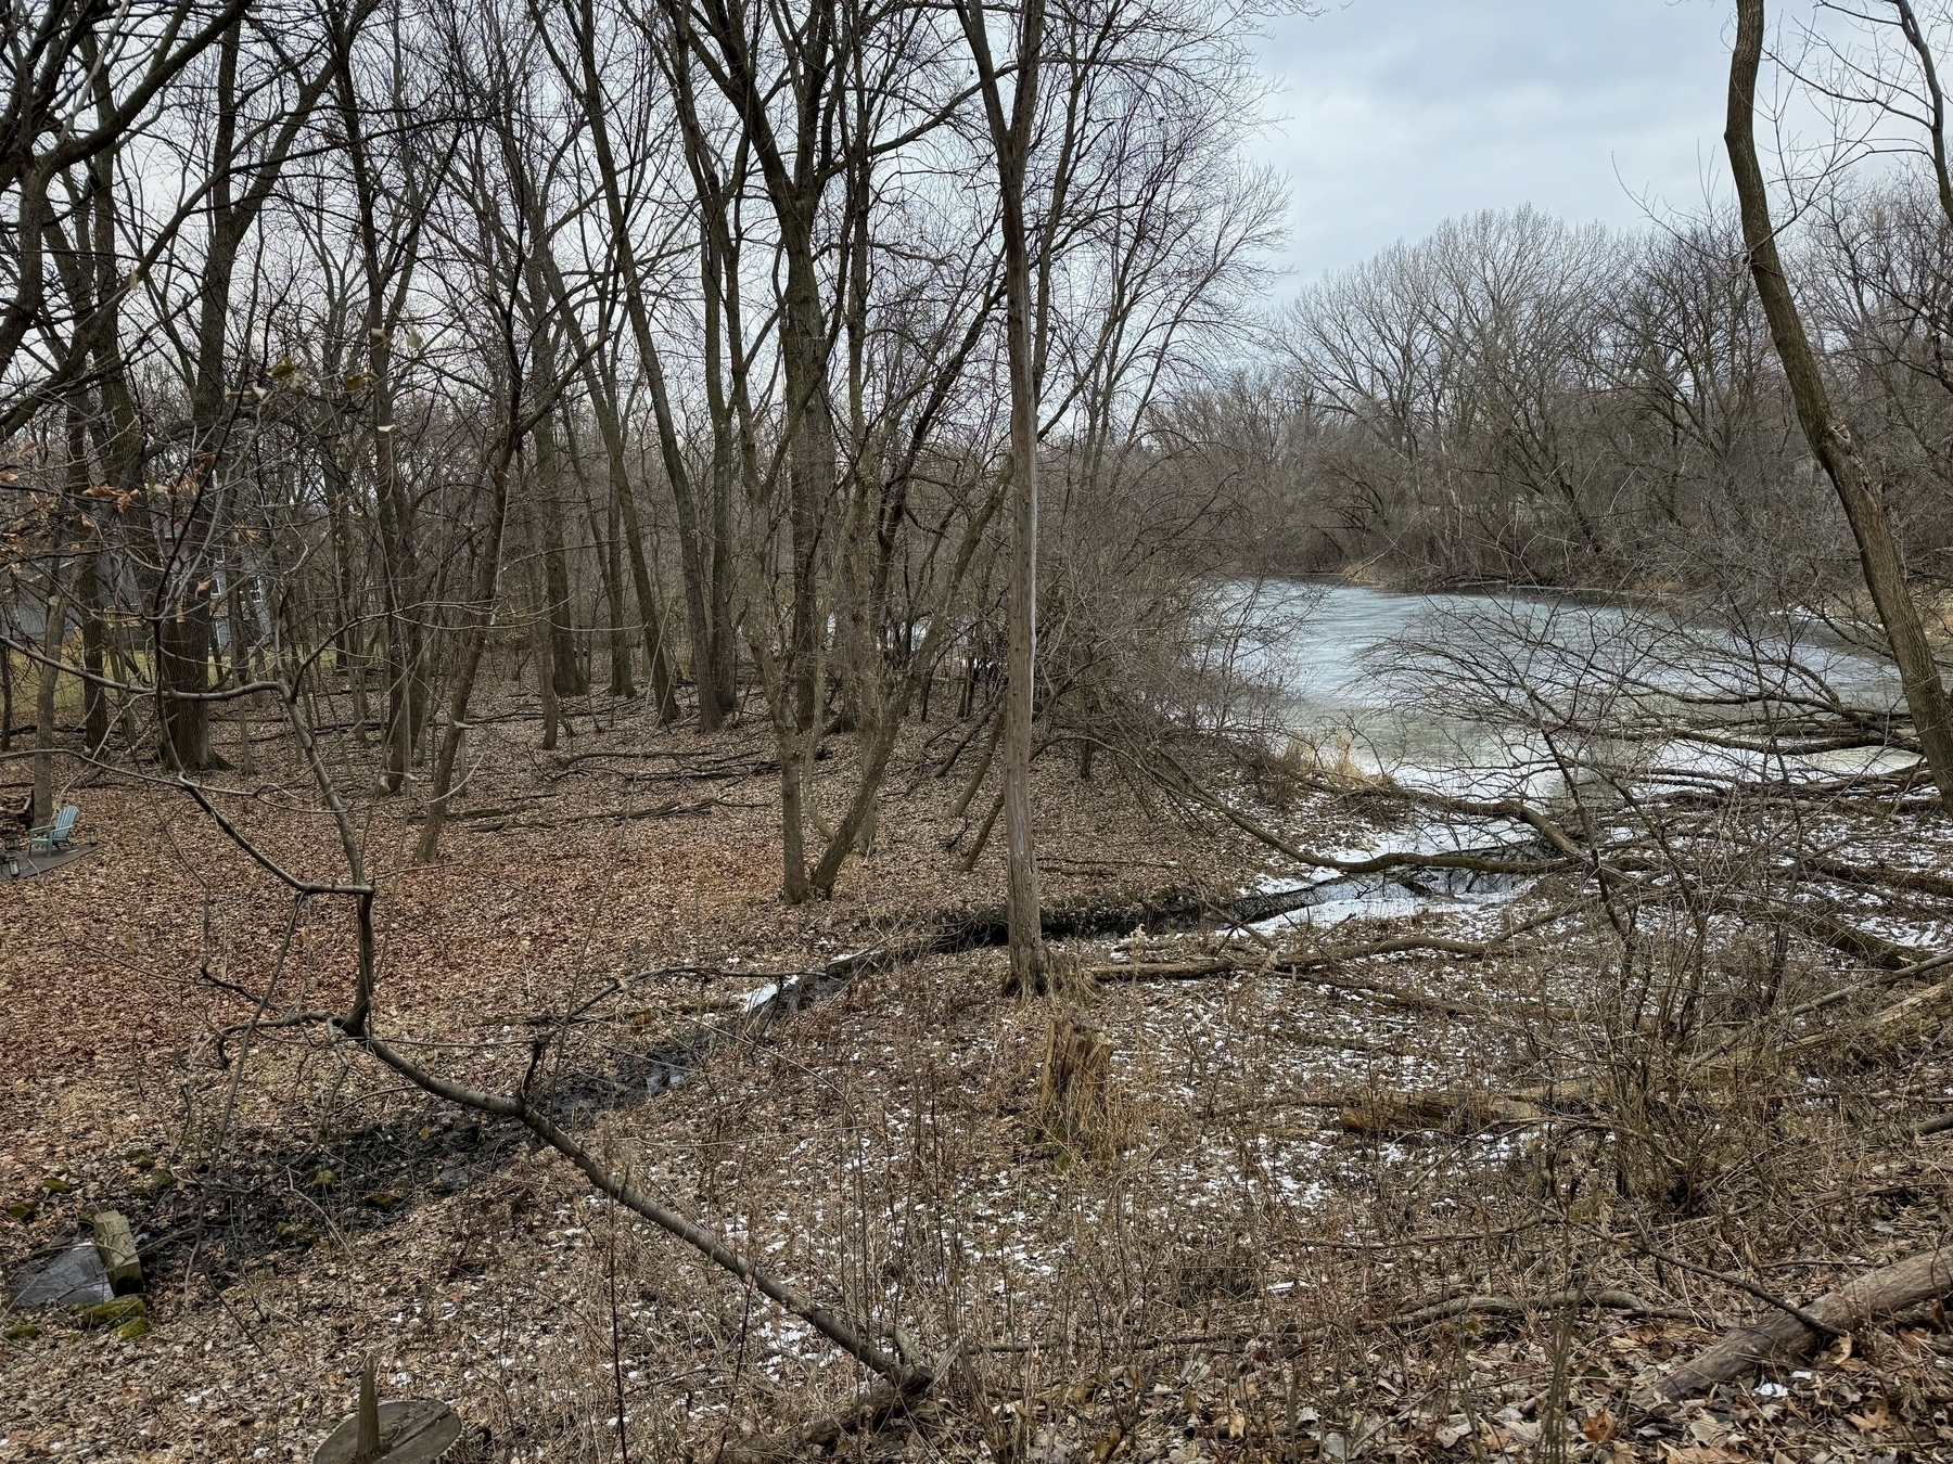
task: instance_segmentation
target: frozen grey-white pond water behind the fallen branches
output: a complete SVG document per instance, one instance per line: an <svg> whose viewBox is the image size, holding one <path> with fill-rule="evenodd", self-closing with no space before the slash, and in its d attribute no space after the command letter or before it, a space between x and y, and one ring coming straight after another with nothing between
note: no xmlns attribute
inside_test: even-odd
<svg viewBox="0 0 1953 1464"><path fill-rule="evenodd" d="M1779 738L1769 753L1717 746L1728 734L1754 740L1736 726L1738 697L1898 705L1887 664L1781 617L1730 629L1658 605L1307 580L1238 586L1232 609L1281 627L1238 668L1273 689L1271 734L1355 777L1537 798L1582 775L1672 787L1912 761L1812 736Z"/></svg>

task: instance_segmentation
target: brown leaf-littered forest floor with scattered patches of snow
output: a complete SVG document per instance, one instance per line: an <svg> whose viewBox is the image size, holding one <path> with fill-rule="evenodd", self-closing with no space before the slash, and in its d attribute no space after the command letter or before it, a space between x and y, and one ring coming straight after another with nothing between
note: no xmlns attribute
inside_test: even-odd
<svg viewBox="0 0 1953 1464"><path fill-rule="evenodd" d="M377 1029L498 1091L553 1033L531 1091L609 1165L922 1357L963 1343L935 1394L846 1456L1953 1458L1937 1308L1674 1417L1625 1405L1767 1310L1703 1273L1808 1300L1939 1241L1953 1134L1912 1132L1953 1103L1935 1042L1808 1062L1789 1099L1642 1081L1633 1146L1594 1122L1359 1132L1346 1113L1391 1093L1598 1070L1605 1021L1566 1015L1592 996L1588 915L1557 878L1496 900L1400 888L1258 931L1107 929L1060 943L1072 990L1037 1001L1000 996L998 951L943 951L756 1021L769 990L844 953L998 906L1002 839L971 871L961 855L990 791L951 816L976 750L939 779L951 738L910 732L875 847L793 908L764 726L701 738L598 699L541 752L521 697L477 726L441 863L408 865L416 796L357 802ZM252 736L254 769L213 779L219 808L283 869L344 878L283 740ZM853 742L828 746L832 812ZM363 793L371 750L334 748ZM1053 906L1139 921L1164 896L1219 908L1314 878L1072 761L1037 783ZM478 1460L717 1462L859 1394L855 1364L553 1152L316 1023L246 1031L260 1009L344 1007L344 902L295 902L154 769L66 796L94 853L0 886L0 1267L18 1277L119 1210L152 1329L0 1314L0 1460L307 1460L365 1357L383 1396L455 1403L457 1458ZM1283 802L1264 814L1309 847L1408 837L1361 789ZM1859 834L1953 859L1937 816ZM1486 958L1295 976L1256 955L1521 925ZM1223 951L1232 972L1189 976ZM1781 935L1738 956L1793 996L1846 970ZM1074 1011L1109 1042L1109 1081L1092 1130L1055 1132L1039 1070Z"/></svg>

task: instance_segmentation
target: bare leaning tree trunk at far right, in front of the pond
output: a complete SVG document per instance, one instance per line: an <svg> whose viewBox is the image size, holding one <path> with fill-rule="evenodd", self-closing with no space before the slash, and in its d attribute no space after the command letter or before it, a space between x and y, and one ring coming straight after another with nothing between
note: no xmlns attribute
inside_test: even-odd
<svg viewBox="0 0 1953 1464"><path fill-rule="evenodd" d="M1756 74L1764 53L1764 0L1736 0L1736 47L1728 68L1728 144L1730 172L1736 180L1736 199L1742 205L1744 246L1750 252L1750 273L1769 320L1769 336L1783 363L1783 377L1797 404L1797 420L1805 429L1812 455L1824 465L1824 474L1838 492L1851 535L1857 539L1865 588L1885 625L1898 664L1898 681L1906 707L1926 753L1926 767L1943 806L1953 808L1953 709L1947 705L1939 668L1933 662L1918 601L1906 586L1904 560L1885 513L1885 484L1857 451L1849 429L1836 416L1824 379L1818 375L1816 353L1805 336L1783 262L1777 256L1775 226L1769 221L1769 193L1764 170L1756 158Z"/></svg>

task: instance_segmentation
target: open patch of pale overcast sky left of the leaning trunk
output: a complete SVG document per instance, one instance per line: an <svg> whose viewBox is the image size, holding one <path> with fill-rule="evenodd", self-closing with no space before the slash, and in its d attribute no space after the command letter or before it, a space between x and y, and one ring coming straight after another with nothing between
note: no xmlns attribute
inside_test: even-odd
<svg viewBox="0 0 1953 1464"><path fill-rule="evenodd" d="M1289 289L1441 219L1633 226L1721 170L1721 0L1328 0L1269 23L1254 154L1289 180Z"/></svg>

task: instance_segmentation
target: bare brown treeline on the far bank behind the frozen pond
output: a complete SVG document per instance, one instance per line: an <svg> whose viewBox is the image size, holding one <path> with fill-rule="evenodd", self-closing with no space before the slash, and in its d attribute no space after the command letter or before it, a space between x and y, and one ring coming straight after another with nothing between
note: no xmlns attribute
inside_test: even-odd
<svg viewBox="0 0 1953 1464"><path fill-rule="evenodd" d="M1908 572L1953 570L1953 238L1908 182L1787 240ZM1326 277L1269 363L1164 414L1258 568L1830 599L1855 552L1783 388L1732 217L1641 236L1480 213Z"/></svg>

